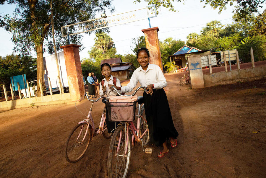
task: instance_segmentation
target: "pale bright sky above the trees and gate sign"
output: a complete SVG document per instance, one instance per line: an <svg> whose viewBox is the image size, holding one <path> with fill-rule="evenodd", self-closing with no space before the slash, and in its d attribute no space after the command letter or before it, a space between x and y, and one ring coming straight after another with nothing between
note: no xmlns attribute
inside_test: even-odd
<svg viewBox="0 0 266 178"><path fill-rule="evenodd" d="M134 0L112 1L113 6L115 7L115 12L111 14L111 12L107 9L106 15L115 15L148 6L147 2L144 0L137 4L134 4L133 1ZM172 37L173 39L181 39L186 42L186 36L189 35L189 33L200 33L200 30L205 27L208 22L218 20L223 25L231 24L233 22L233 6L228 5L227 9L223 10L219 14L218 9L214 10L209 5L206 5L204 8L204 5L204 3L200 3L200 0L186 0L184 3L173 2L176 12L170 12L168 9L160 7L158 9L159 14L157 17L150 19L151 27L159 28L158 37L160 41L163 41L168 37ZM14 5L11 6L8 4L0 5L0 14L12 15L15 7L16 6ZM100 17L100 14L96 17ZM116 54L132 54L132 40L134 38L144 36L144 33L141 30L147 28L149 28L148 19L110 27L108 35L110 35L114 41L117 50ZM0 28L0 56L4 57L12 53L14 44L10 40L11 37L12 35L5 31L4 28ZM82 44L84 49L80 51L80 59L89 58L88 51L91 50L95 43L94 38L94 33L91 35L83 33ZM48 53L44 53L44 57L48 55ZM36 57L36 53L34 52L32 56Z"/></svg>

